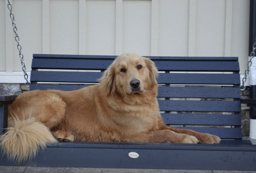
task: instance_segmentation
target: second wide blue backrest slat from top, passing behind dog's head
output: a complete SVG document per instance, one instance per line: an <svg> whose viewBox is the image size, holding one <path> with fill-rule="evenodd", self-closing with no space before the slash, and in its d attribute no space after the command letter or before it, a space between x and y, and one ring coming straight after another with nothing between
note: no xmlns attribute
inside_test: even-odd
<svg viewBox="0 0 256 173"><path fill-rule="evenodd" d="M31 82L98 83L102 72L31 71ZM158 83L239 85L240 74L159 73Z"/></svg>

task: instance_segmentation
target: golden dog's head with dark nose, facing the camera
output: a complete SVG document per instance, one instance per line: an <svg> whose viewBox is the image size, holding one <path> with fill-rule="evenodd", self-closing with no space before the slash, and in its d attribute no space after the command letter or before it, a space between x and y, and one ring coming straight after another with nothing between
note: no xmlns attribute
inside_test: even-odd
<svg viewBox="0 0 256 173"><path fill-rule="evenodd" d="M126 53L115 59L99 81L106 88L107 95L133 96L157 88L157 76L155 63L149 58Z"/></svg>

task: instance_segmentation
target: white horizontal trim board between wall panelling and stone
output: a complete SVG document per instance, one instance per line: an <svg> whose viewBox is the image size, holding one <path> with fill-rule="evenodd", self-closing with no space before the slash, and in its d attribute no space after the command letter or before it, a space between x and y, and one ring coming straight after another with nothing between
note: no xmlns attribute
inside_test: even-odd
<svg viewBox="0 0 256 173"><path fill-rule="evenodd" d="M28 71L27 73L28 73L28 80L30 81L30 71ZM12 73L0 71L0 83L25 83L25 79L23 75L24 75L23 71L14 71ZM241 83L242 83L243 77L244 77L244 74L240 74ZM245 86L249 86L249 81L250 81L250 75L248 76L248 79L245 82Z"/></svg>

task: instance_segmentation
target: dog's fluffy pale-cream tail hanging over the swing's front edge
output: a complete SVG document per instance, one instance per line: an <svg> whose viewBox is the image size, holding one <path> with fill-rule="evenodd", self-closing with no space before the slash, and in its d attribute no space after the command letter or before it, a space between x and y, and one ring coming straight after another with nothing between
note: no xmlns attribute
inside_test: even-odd
<svg viewBox="0 0 256 173"><path fill-rule="evenodd" d="M46 147L46 143L55 143L57 140L43 123L34 117L27 120L14 118L15 126L9 127L7 132L0 136L0 146L7 154L8 159L18 163L34 158L39 147Z"/></svg>

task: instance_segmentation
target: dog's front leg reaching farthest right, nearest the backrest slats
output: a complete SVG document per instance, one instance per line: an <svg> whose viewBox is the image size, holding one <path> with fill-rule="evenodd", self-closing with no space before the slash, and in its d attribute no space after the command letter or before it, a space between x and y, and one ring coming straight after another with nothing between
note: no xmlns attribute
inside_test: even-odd
<svg viewBox="0 0 256 173"><path fill-rule="evenodd" d="M202 144L219 144L221 139L215 135L203 134L189 129L175 129L166 125L160 126L161 130L170 130L179 134L187 134L196 137Z"/></svg>

